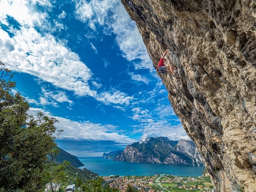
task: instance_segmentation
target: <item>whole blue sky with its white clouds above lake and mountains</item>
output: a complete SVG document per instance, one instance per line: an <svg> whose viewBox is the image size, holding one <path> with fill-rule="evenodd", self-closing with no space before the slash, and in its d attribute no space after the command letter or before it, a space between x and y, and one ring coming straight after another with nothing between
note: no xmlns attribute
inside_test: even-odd
<svg viewBox="0 0 256 192"><path fill-rule="evenodd" d="M146 137L189 139L120 0L0 0L0 61L58 146L102 156ZM163 53L161 53L163 54Z"/></svg>

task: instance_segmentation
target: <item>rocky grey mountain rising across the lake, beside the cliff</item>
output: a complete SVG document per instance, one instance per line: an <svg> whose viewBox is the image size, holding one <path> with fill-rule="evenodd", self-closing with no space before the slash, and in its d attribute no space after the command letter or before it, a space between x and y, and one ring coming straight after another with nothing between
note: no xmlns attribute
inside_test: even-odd
<svg viewBox="0 0 256 192"><path fill-rule="evenodd" d="M114 161L198 166L204 164L192 141L171 141L167 137L148 137L145 141L127 145Z"/></svg>

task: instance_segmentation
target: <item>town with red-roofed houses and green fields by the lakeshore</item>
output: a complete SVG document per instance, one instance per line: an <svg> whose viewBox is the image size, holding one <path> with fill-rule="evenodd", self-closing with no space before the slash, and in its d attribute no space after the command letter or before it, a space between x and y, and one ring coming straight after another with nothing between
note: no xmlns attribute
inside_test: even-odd
<svg viewBox="0 0 256 192"><path fill-rule="evenodd" d="M125 192L128 185L132 185L142 192L214 192L210 177L178 177L173 175L154 176L123 176L111 175L103 177L111 188L118 188Z"/></svg>

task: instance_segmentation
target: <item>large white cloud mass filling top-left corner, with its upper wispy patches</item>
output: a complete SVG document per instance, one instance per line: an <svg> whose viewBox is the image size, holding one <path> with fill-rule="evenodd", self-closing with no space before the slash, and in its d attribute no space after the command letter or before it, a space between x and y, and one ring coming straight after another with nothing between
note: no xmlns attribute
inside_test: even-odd
<svg viewBox="0 0 256 192"><path fill-rule="evenodd" d="M74 91L79 96L95 96L90 90L88 81L92 73L80 61L79 56L65 48L65 43L56 40L48 33L38 33L34 27L50 30L45 12L38 12L35 5L40 4L51 8L49 1L14 0L0 2L0 19L8 25L7 15L13 17L19 24L20 30L10 29L15 34L10 37L0 28L0 58L10 70L29 73L43 81L54 84L66 90ZM61 14L64 17L64 12ZM59 29L63 24L55 21Z"/></svg>

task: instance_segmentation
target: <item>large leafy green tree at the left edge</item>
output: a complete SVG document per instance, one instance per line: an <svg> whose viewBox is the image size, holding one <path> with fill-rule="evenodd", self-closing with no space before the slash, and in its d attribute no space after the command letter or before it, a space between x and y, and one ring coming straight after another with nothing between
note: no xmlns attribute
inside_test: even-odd
<svg viewBox="0 0 256 192"><path fill-rule="evenodd" d="M0 186L1 191L39 191L46 182L46 155L56 146L57 122L42 113L27 114L29 104L13 94L13 73L0 62Z"/></svg>

